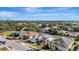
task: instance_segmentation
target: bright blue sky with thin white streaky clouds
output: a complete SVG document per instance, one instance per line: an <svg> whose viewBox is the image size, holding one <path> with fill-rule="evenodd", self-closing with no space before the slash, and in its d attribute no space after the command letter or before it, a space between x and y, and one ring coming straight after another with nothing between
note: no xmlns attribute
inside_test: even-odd
<svg viewBox="0 0 79 59"><path fill-rule="evenodd" d="M0 7L3 20L79 20L78 7Z"/></svg>

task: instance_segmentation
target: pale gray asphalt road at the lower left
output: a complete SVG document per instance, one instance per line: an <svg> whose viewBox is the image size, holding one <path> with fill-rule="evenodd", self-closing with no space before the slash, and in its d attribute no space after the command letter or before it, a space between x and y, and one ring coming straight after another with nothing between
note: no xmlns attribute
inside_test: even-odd
<svg viewBox="0 0 79 59"><path fill-rule="evenodd" d="M28 43L27 44L21 44L21 43L16 42L15 40L7 40L2 36L0 36L0 40L6 41L6 45L13 47L17 51L27 51L27 50L32 49L32 48L29 47L31 45L28 44Z"/></svg>

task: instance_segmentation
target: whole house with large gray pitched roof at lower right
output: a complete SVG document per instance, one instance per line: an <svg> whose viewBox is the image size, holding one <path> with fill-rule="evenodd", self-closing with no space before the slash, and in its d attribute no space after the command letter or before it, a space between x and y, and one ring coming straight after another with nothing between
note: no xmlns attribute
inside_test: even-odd
<svg viewBox="0 0 79 59"><path fill-rule="evenodd" d="M73 43L74 40L68 37L60 37L54 40L54 44L56 44L58 46L58 50L61 51L67 51L72 46Z"/></svg>

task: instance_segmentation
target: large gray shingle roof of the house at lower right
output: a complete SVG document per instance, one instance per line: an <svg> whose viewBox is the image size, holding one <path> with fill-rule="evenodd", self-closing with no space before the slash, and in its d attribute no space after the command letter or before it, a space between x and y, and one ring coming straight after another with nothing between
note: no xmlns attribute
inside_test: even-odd
<svg viewBox="0 0 79 59"><path fill-rule="evenodd" d="M67 37L60 37L55 40L55 43L60 47L69 48L69 46L74 43L74 40Z"/></svg>

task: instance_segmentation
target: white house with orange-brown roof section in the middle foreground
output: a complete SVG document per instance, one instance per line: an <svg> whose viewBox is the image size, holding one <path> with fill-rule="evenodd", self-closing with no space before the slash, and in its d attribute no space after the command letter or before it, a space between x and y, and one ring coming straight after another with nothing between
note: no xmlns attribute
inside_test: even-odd
<svg viewBox="0 0 79 59"><path fill-rule="evenodd" d="M27 32L25 36L28 37L28 40L31 40L32 42L36 42L37 39L38 41L41 42L41 41L44 41L44 38L49 42L53 40L53 37L50 34L38 33L38 32L32 32L32 31Z"/></svg>

